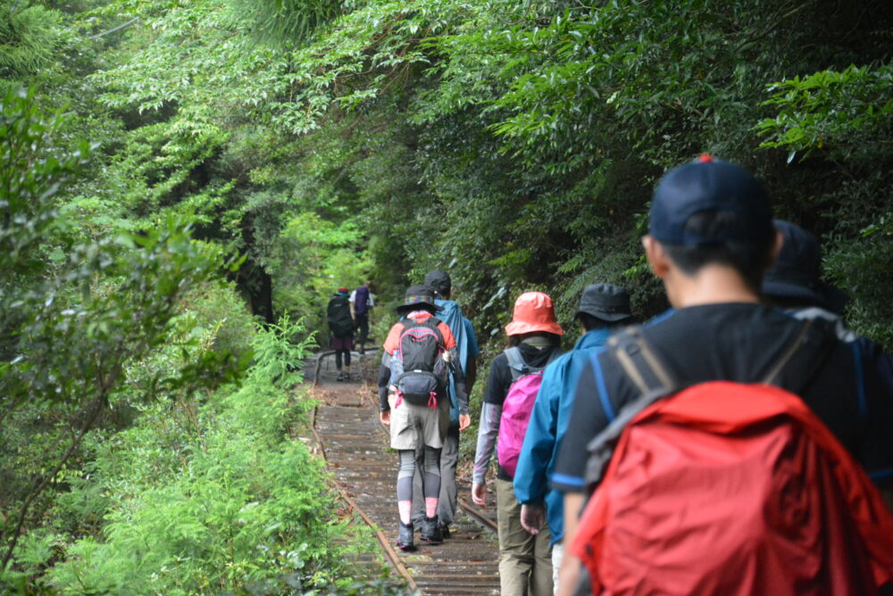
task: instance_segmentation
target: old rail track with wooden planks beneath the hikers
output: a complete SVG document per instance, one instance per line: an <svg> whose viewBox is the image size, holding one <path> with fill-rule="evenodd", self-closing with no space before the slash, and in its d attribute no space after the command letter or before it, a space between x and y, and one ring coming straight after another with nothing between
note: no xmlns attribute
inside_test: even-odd
<svg viewBox="0 0 893 596"><path fill-rule="evenodd" d="M396 454L388 448L373 390L363 378L371 377L372 358L355 355L355 360L360 360L355 366L356 378L347 383L336 383L333 366L319 361L331 360L329 354L323 352L316 362L308 362L308 368L313 367L313 386L321 397L313 415L313 435L342 498L372 528L391 567L413 590L426 595L498 593L495 510L478 509L460 497L461 511L452 536L443 544L421 544L416 534L415 552L405 553L393 546ZM467 486L460 485L461 493L467 491Z"/></svg>

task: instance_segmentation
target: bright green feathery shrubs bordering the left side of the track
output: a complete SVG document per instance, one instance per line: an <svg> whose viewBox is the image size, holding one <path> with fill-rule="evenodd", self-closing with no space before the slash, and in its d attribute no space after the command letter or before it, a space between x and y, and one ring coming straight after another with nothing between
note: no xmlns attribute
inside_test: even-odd
<svg viewBox="0 0 893 596"><path fill-rule="evenodd" d="M346 577L346 553L366 545L333 545L346 526L321 459L286 434L313 405L290 394L300 374L289 368L299 369L310 345L302 335L288 320L258 329L255 364L238 387L204 404L154 403L128 430L94 442L93 463L59 509L82 515L99 485L104 526L67 547L47 585L195 593L276 578L308 589Z"/></svg>

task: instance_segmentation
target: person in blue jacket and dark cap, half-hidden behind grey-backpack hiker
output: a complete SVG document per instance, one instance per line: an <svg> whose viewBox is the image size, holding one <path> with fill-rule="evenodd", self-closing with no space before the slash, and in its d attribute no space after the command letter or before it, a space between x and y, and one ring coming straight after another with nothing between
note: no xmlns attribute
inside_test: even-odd
<svg viewBox="0 0 893 596"><path fill-rule="evenodd" d="M434 303L443 310L438 312L438 319L450 328L455 337L456 352L465 373L466 393L472 393L477 377L478 337L474 333L472 321L463 317L459 305L450 300L453 293L453 282L444 271L437 269L425 276L425 286L429 286L435 295ZM438 501L438 520L444 538L450 535L450 524L455 519L456 499L455 468L459 462L459 401L456 399L455 378L449 378L449 430L440 451L440 500ZM421 452L420 452L421 455ZM416 469L413 479L413 520L421 526L425 517L424 503L421 497L421 470Z"/></svg>

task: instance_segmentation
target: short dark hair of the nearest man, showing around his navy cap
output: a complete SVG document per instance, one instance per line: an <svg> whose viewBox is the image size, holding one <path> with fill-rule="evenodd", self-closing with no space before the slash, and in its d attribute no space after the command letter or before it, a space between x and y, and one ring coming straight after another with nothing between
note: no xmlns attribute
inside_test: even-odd
<svg viewBox="0 0 893 596"><path fill-rule="evenodd" d="M718 236L718 230L734 228L737 218L728 211L702 211L692 215L685 223L691 234ZM727 265L737 270L750 289L759 292L763 274L772 264L772 246L775 236L754 242L730 240L713 244L676 245L663 244L663 251L686 275L693 276L710 264Z"/></svg>

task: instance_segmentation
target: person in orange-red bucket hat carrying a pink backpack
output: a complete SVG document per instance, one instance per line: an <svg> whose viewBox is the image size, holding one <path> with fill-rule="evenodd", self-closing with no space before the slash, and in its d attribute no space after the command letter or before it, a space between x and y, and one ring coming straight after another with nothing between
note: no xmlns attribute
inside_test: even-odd
<svg viewBox="0 0 893 596"><path fill-rule="evenodd" d="M490 365L480 410L472 500L481 507L487 505L487 469L498 443L497 529L503 596L553 592L548 530L533 535L521 525L521 503L515 498L512 480L542 370L560 355L563 333L547 294L521 294L514 302L512 322L505 327L509 347Z"/></svg>

